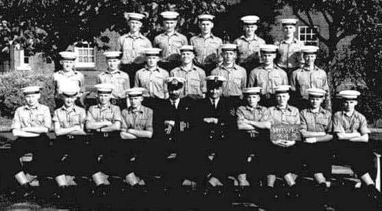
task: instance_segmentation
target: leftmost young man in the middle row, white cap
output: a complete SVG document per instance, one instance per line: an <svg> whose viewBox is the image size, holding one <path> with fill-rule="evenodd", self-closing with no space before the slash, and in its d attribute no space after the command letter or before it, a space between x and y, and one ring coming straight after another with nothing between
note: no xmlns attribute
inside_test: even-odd
<svg viewBox="0 0 382 211"><path fill-rule="evenodd" d="M86 96L81 96L82 92L84 92L85 90L84 75L79 71L74 70L75 59L77 58L77 55L76 53L71 51L61 51L60 57L60 64L62 65L62 70L57 71L53 74L53 81L55 84L55 108L60 108L62 105L64 105L64 102L60 97L60 88L63 84L68 83L73 84L73 86L79 86L79 97L81 99L79 103L81 106L84 106L84 97Z"/></svg>

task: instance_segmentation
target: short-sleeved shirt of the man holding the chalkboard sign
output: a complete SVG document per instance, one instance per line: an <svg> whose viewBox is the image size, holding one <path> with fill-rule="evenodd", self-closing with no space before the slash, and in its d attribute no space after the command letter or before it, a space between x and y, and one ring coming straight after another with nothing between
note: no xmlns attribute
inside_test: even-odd
<svg viewBox="0 0 382 211"><path fill-rule="evenodd" d="M298 113L298 109L291 105L288 105L285 109L281 109L279 106L272 106L268 108L264 119L269 121L272 125L300 124L300 114Z"/></svg>

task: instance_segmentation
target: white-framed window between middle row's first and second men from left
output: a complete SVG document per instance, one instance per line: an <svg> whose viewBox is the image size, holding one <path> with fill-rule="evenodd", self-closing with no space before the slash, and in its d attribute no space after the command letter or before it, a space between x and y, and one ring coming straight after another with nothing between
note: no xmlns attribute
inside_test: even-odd
<svg viewBox="0 0 382 211"><path fill-rule="evenodd" d="M77 54L77 59L75 60L76 69L95 69L96 68L96 48L92 46L89 42L81 42L81 47L77 46L79 42L75 42L74 51ZM80 51L84 52L86 50L87 55L80 55ZM93 54L90 55L90 50L93 51ZM82 53L83 54L83 53ZM91 58L94 58L93 62L80 62L81 58L88 58L90 61Z"/></svg>

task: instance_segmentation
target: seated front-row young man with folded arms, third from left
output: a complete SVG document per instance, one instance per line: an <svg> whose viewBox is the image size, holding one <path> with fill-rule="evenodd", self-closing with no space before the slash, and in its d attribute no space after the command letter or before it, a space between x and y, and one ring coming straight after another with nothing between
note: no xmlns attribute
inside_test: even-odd
<svg viewBox="0 0 382 211"><path fill-rule="evenodd" d="M114 156L116 142L119 139L120 130L120 109L117 105L110 103L112 97L112 84L97 84L97 98L99 103L90 106L86 114L86 129L92 132L92 159L94 166L92 169L92 179L96 185L94 193L106 195L106 186L110 184L107 175L112 171L108 161Z"/></svg>

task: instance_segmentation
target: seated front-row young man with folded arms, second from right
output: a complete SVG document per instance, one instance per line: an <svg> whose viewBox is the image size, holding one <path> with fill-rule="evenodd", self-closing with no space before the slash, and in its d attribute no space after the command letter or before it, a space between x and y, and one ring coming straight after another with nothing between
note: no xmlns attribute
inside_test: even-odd
<svg viewBox="0 0 382 211"><path fill-rule="evenodd" d="M321 107L326 94L320 88L308 88L309 108L300 112L301 136L303 143L300 146L303 161L307 162L309 173L314 174L318 188L327 192L327 180L324 175L331 173L329 141L331 135L332 121L331 112Z"/></svg>

